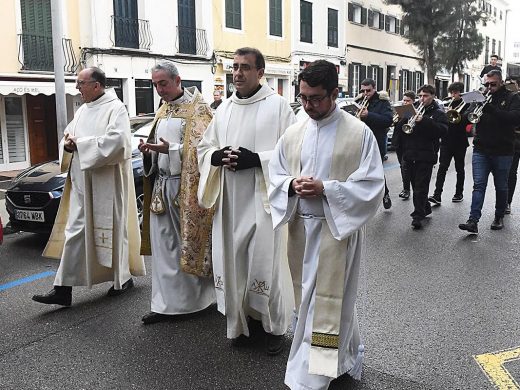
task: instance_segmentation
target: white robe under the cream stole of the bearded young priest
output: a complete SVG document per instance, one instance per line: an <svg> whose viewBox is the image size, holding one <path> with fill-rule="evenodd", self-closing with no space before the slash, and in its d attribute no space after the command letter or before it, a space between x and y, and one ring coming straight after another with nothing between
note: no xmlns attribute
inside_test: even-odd
<svg viewBox="0 0 520 390"><path fill-rule="evenodd" d="M323 181L326 197L299 198L288 196L289 186L295 178L291 176L287 156L284 155L284 138L278 142L271 159L270 202L275 228L279 228L292 218L303 219L304 233L300 237L289 236L304 248L303 262L299 266L301 281L301 305L297 308L294 338L287 363L285 383L292 390L327 389L332 377L309 373L309 356L312 337L317 270L320 254L320 235L323 224L327 224L336 240L350 237L343 261L349 267L345 274L344 298L339 334L339 360L337 375L354 367L361 345L355 306L352 299L357 294L359 263L362 256L367 221L374 216L381 202L384 175L379 150L375 138L368 127L363 130L363 142L359 167L344 182L330 180L329 173L333 148L336 142L338 115L336 109L326 118L315 121L309 119L305 126L305 136L301 148L301 174L313 176ZM290 246L291 247L291 246ZM291 252L289 252L291 256ZM349 275L349 283L347 283ZM300 292L295 292L299 294ZM360 372L357 373L360 375ZM337 376L335 375L335 376ZM357 375L356 375L357 376Z"/></svg>

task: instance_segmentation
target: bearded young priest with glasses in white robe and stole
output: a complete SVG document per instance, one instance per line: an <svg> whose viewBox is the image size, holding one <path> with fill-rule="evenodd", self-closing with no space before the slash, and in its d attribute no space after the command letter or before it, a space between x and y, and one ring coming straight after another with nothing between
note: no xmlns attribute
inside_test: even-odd
<svg viewBox="0 0 520 390"><path fill-rule="evenodd" d="M276 145L269 200L275 229L289 225L296 298L285 383L318 390L344 373L361 377L358 274L384 174L373 133L336 106L335 65L315 61L298 80L309 119L289 127Z"/></svg>

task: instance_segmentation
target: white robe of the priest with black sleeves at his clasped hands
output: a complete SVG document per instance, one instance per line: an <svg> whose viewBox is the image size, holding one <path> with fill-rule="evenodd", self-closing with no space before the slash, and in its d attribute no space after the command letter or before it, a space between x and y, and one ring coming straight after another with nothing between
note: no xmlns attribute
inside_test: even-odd
<svg viewBox="0 0 520 390"><path fill-rule="evenodd" d="M249 336L247 317L266 332L286 332L294 306L283 231L273 232L267 199L268 163L276 142L294 122L285 99L267 85L253 96L233 94L215 112L198 146L199 203L215 206L213 275L227 337ZM261 167L230 171L211 165L226 146L258 153Z"/></svg>

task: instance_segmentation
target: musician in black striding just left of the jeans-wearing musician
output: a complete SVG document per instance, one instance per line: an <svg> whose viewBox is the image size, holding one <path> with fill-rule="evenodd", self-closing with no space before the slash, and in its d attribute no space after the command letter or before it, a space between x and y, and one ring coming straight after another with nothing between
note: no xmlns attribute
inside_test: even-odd
<svg viewBox="0 0 520 390"><path fill-rule="evenodd" d="M460 82L452 83L448 87L452 101L448 110L454 110L458 116L458 122L450 122L448 132L441 141L441 153L439 157L439 170L437 171L437 180L435 182L435 191L428 200L436 205L441 204L442 187L446 179L446 172L450 167L451 159L455 161L455 170L457 171L457 183L455 184L455 195L451 199L452 202L462 202L464 193L464 160L466 158L466 149L469 146L468 135L466 133L466 125L468 124L467 116L462 111L467 108L460 94L464 92L464 84ZM459 114L455 114L458 111Z"/></svg>

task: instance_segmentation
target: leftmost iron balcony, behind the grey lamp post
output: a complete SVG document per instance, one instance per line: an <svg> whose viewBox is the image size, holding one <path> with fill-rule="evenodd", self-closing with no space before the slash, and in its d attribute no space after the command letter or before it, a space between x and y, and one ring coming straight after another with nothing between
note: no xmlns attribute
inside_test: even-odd
<svg viewBox="0 0 520 390"><path fill-rule="evenodd" d="M78 61L72 47L72 40L63 38L65 73L73 74L78 68ZM54 72L52 37L35 34L18 34L18 62L21 70Z"/></svg>

